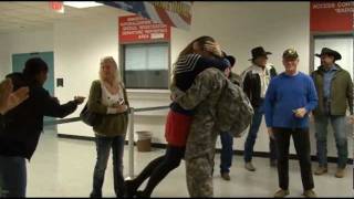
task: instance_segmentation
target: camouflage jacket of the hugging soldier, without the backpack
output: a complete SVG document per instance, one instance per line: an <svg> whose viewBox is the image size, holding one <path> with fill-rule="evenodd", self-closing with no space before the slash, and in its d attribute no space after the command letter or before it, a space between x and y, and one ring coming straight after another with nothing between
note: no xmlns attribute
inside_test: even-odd
<svg viewBox="0 0 354 199"><path fill-rule="evenodd" d="M175 102L185 109L195 108L186 144L186 159L214 153L219 134L215 125L217 104L227 81L222 72L210 67L199 73L185 93L171 85Z"/></svg>

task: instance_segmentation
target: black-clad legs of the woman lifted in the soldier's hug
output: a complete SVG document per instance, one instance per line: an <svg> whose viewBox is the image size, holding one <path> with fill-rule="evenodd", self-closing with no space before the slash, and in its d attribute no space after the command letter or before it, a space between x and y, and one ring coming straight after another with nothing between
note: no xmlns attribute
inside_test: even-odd
<svg viewBox="0 0 354 199"><path fill-rule="evenodd" d="M144 189L145 196L150 196L154 188L180 164L185 156L185 147L167 145L166 154L150 161L143 171L133 180L137 189L148 177L149 180Z"/></svg>

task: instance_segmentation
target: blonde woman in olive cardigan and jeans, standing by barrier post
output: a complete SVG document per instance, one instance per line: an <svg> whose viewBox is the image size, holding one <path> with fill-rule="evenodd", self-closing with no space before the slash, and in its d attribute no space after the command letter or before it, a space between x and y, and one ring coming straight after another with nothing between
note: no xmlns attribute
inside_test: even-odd
<svg viewBox="0 0 354 199"><path fill-rule="evenodd" d="M111 148L113 151L114 191L117 197L124 195L123 150L128 122L128 106L126 91L121 81L116 62L112 56L103 57L100 80L94 81L91 85L87 106L88 111L102 116L101 123L93 127L97 160L90 197L102 197L102 186Z"/></svg>

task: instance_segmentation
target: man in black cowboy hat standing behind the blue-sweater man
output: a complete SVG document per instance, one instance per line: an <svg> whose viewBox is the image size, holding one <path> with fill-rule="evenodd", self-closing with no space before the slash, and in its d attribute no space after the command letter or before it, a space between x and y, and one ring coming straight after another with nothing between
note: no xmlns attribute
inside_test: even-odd
<svg viewBox="0 0 354 199"><path fill-rule="evenodd" d="M267 63L268 55L272 54L267 52L262 46L257 46L251 50L252 65L249 66L242 73L242 87L247 96L249 97L254 115L252 118L251 126L247 139L244 142L244 168L249 171L254 171L256 168L252 165L253 146L256 143L257 134L262 122L263 116L263 101L269 82L277 75L277 71L272 64ZM277 148L273 139L270 139L270 165L275 166L277 164Z"/></svg>

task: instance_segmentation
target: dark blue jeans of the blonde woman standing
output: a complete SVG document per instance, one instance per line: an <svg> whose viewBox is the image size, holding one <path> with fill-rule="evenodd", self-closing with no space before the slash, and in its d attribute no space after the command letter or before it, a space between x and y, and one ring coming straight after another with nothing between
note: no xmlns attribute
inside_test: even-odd
<svg viewBox="0 0 354 199"><path fill-rule="evenodd" d="M93 175L93 190L91 197L102 197L102 186L104 174L107 167L110 150L113 153L113 179L114 191L117 197L124 195L124 177L123 177L123 151L124 136L104 137L96 135L97 160Z"/></svg>

